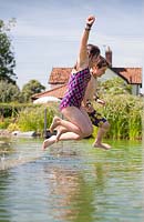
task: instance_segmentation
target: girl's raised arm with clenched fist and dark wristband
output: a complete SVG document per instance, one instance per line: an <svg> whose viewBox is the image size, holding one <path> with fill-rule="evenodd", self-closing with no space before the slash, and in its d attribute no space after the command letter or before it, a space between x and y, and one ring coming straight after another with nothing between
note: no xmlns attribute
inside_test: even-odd
<svg viewBox="0 0 144 222"><path fill-rule="evenodd" d="M85 29L81 37L80 51L79 51L78 61L76 61L78 70L84 69L89 65L89 57L88 57L86 46L88 46L90 30L91 30L91 27L93 26L94 21L95 21L94 16L89 16L86 19L86 26L85 26Z"/></svg>

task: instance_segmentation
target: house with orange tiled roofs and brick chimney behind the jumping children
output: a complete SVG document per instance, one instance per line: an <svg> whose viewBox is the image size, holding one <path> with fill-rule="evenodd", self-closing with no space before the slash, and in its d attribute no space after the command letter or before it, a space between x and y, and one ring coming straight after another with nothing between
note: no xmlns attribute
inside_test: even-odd
<svg viewBox="0 0 144 222"><path fill-rule="evenodd" d="M110 47L105 51L105 59L110 63L110 68L106 70L105 74L102 75L100 81L105 81L114 77L122 78L127 84L132 85L132 93L137 95L142 88L142 68L115 68L112 67L112 51ZM38 99L40 97L52 95L59 99L63 98L66 90L66 83L70 78L72 68L52 68L49 85L50 90L34 94L32 99Z"/></svg>

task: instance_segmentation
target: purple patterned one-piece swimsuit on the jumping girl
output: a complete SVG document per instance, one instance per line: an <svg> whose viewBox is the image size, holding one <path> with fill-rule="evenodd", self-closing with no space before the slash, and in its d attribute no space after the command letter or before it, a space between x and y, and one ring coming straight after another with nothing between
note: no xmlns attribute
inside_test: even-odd
<svg viewBox="0 0 144 222"><path fill-rule="evenodd" d="M90 79L91 73L89 68L71 74L68 90L60 104L60 110L66 107L81 107Z"/></svg>

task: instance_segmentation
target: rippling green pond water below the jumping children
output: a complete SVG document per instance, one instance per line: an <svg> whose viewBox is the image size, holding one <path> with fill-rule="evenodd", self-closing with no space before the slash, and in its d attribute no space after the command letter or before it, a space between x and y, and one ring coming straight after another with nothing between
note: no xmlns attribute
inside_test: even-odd
<svg viewBox="0 0 144 222"><path fill-rule="evenodd" d="M7 139L0 153L0 222L141 222L142 141ZM7 152L6 152L7 150Z"/></svg>

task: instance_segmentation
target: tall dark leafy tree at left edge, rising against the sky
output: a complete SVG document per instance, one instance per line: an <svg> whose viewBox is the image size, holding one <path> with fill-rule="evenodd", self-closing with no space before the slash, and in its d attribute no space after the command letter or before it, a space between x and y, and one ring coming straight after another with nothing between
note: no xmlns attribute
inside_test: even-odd
<svg viewBox="0 0 144 222"><path fill-rule="evenodd" d="M11 51L11 40L8 36L14 23L14 19L11 19L8 24L4 24L3 20L0 20L0 80L7 80L16 84L17 75L13 71L16 60Z"/></svg>

